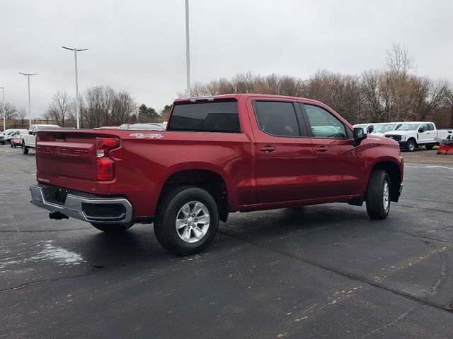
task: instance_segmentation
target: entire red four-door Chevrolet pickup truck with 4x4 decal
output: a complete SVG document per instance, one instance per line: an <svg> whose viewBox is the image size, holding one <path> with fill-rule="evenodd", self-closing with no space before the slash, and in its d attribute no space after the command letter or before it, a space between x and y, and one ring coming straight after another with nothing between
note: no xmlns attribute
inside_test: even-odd
<svg viewBox="0 0 453 339"><path fill-rule="evenodd" d="M178 99L166 131L38 131L36 162L31 202L50 218L105 232L154 222L178 255L206 249L230 212L366 201L384 219L403 187L396 141L272 95Z"/></svg>

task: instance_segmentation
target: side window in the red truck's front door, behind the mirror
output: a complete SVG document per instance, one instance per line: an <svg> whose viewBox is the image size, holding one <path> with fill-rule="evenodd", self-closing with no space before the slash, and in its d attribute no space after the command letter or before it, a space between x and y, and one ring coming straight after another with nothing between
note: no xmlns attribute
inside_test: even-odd
<svg viewBox="0 0 453 339"><path fill-rule="evenodd" d="M316 138L348 138L345 125L331 113L314 105L304 105L311 133Z"/></svg>

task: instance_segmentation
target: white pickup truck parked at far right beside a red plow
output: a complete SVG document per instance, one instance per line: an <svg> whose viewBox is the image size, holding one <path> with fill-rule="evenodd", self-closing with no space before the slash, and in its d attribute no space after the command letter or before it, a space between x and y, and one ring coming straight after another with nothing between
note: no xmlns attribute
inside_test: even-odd
<svg viewBox="0 0 453 339"><path fill-rule="evenodd" d="M441 137L437 133L436 125L431 121L406 121L398 123L394 131L386 133L387 138L398 141L400 148L413 152L416 148L425 146L428 150L437 145L437 138ZM443 135L444 130L439 133ZM447 136L447 129L445 129Z"/></svg>

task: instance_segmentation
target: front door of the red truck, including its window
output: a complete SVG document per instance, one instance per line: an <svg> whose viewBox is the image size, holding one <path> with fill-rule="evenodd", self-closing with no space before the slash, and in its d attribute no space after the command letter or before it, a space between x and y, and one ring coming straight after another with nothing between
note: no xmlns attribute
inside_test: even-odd
<svg viewBox="0 0 453 339"><path fill-rule="evenodd" d="M361 194L365 151L353 145L352 131L326 107L300 104L314 147L316 198Z"/></svg>

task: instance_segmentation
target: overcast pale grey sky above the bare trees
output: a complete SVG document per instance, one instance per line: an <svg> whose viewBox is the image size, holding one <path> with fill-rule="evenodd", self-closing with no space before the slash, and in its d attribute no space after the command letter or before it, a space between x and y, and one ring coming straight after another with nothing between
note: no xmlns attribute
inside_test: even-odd
<svg viewBox="0 0 453 339"><path fill-rule="evenodd" d="M0 87L39 116L57 90L110 85L161 109L185 89L184 0L1 0ZM385 65L392 42L418 73L453 79L452 0L190 0L191 77L245 71L306 78Z"/></svg>

